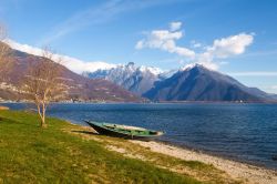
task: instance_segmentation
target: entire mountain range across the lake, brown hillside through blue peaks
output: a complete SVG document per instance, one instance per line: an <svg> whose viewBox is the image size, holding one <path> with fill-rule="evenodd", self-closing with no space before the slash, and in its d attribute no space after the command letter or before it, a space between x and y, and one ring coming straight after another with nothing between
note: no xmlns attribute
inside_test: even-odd
<svg viewBox="0 0 277 184"><path fill-rule="evenodd" d="M14 48L13 48L14 49ZM19 81L24 75L32 53L13 50L14 67L9 80L0 83L0 98L17 99ZM226 74L209 70L201 64L162 71L153 67L137 67L135 63L89 64L81 74L68 69L69 63L78 60L63 57L65 67L62 78L66 79L69 100L145 102L151 101L230 101L230 102L276 102L277 96L256 88L248 88Z"/></svg>

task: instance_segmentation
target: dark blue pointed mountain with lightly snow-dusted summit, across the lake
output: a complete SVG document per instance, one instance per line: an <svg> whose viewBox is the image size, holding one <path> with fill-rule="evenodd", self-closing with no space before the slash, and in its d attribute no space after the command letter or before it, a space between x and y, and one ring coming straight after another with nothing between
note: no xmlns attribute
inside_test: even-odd
<svg viewBox="0 0 277 184"><path fill-rule="evenodd" d="M244 101L271 102L274 96L256 88L248 88L237 80L192 64L154 84L144 98L154 101Z"/></svg>

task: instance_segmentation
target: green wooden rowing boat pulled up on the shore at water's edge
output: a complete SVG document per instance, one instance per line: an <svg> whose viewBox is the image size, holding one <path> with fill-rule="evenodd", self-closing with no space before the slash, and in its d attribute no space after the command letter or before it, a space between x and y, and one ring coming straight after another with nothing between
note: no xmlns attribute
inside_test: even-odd
<svg viewBox="0 0 277 184"><path fill-rule="evenodd" d="M122 124L111 124L111 123L98 123L92 121L84 121L91 127L93 127L98 133L126 137L126 139L152 139L156 136L161 136L164 133L160 131L152 131L143 127L129 126Z"/></svg>

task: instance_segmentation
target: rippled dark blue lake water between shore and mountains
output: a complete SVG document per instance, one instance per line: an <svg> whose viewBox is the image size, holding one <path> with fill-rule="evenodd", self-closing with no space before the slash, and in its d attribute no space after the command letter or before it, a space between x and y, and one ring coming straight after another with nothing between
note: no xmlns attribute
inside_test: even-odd
<svg viewBox="0 0 277 184"><path fill-rule="evenodd" d="M277 168L277 104L53 104L49 114L162 130L161 141Z"/></svg>

